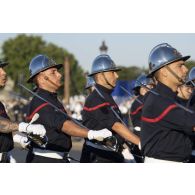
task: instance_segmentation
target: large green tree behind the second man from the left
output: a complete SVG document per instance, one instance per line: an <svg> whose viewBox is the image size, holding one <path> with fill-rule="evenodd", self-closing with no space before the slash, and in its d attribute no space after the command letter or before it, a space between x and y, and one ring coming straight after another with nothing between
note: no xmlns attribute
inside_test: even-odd
<svg viewBox="0 0 195 195"><path fill-rule="evenodd" d="M45 54L53 58L57 63L63 63L66 56L70 59L71 68L71 95L81 93L85 83L84 71L78 65L73 54L53 43L46 43L41 36L20 34L15 38L8 39L2 45L2 56L8 59L10 65L7 67L8 75L15 81L23 82L29 78L29 63L38 55ZM62 71L63 73L63 71ZM18 88L15 86L15 90ZM61 94L63 89L61 89Z"/></svg>

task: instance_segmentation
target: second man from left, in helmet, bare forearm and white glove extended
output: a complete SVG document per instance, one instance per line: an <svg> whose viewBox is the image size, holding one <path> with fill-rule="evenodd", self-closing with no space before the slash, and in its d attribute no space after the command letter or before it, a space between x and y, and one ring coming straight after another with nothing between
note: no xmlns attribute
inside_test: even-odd
<svg viewBox="0 0 195 195"><path fill-rule="evenodd" d="M31 76L28 82L34 82L37 85L37 94L39 96L66 113L63 105L57 98L57 90L61 86L62 78L58 69L61 67L62 64L56 64L54 60L47 56L37 55L31 60L29 65ZM69 162L68 153L72 147L71 136L88 138L90 140L103 140L112 135L106 129L98 132L78 126L67 115L56 111L48 102L34 97L29 104L27 120L31 120L35 113L39 113L40 117L37 122L45 126L48 143L46 148L32 145L27 155L27 162Z"/></svg>

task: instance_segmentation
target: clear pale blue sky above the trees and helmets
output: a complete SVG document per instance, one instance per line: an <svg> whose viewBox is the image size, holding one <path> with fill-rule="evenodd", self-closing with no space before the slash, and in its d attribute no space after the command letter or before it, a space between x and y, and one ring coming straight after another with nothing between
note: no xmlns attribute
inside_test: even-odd
<svg viewBox="0 0 195 195"><path fill-rule="evenodd" d="M90 70L93 59L100 53L103 40L108 54L117 65L147 67L150 50L157 44L167 42L183 55L195 60L195 33L47 33L41 35L47 42L64 47L73 53L84 70ZM0 45L16 34L0 33Z"/></svg>

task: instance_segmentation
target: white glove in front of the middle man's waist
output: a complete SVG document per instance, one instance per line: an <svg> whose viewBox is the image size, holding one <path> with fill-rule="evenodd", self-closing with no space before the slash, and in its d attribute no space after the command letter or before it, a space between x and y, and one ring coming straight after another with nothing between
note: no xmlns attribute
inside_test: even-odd
<svg viewBox="0 0 195 195"><path fill-rule="evenodd" d="M112 136L112 132L108 129L102 129L102 130L89 130L88 131L88 139L96 139L98 141L103 141L105 138Z"/></svg>

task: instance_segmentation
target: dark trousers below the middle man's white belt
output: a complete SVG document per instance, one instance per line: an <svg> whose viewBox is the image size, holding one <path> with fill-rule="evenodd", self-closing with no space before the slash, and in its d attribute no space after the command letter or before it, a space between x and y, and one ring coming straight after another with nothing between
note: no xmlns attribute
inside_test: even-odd
<svg viewBox="0 0 195 195"><path fill-rule="evenodd" d="M83 145L81 163L123 163L124 158L116 152L108 152Z"/></svg>

